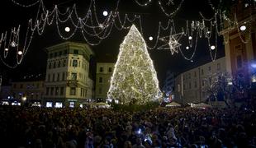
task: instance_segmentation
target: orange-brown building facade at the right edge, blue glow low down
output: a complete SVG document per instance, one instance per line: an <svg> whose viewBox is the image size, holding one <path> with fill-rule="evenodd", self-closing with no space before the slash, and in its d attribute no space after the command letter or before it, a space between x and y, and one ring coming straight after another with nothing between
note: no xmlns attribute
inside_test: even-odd
<svg viewBox="0 0 256 148"><path fill-rule="evenodd" d="M239 0L230 8L220 34L224 36L226 69L250 82L256 72L256 10ZM256 77L255 80L256 81Z"/></svg>

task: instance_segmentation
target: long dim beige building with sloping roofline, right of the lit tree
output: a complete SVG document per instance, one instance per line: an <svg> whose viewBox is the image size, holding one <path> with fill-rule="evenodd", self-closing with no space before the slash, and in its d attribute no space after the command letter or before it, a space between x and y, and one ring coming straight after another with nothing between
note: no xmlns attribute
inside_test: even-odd
<svg viewBox="0 0 256 148"><path fill-rule="evenodd" d="M214 62L207 62L199 67L194 67L175 77L174 98L181 104L200 103L206 101L208 95L203 90L204 79L211 73L226 72L225 57Z"/></svg>

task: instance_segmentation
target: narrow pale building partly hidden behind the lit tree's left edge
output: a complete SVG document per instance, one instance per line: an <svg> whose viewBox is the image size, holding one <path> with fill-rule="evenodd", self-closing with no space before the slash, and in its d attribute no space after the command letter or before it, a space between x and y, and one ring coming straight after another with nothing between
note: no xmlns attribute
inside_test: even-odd
<svg viewBox="0 0 256 148"><path fill-rule="evenodd" d="M107 91L110 87L110 81L114 67L114 62L97 62L95 90L95 97L97 100L107 99Z"/></svg>

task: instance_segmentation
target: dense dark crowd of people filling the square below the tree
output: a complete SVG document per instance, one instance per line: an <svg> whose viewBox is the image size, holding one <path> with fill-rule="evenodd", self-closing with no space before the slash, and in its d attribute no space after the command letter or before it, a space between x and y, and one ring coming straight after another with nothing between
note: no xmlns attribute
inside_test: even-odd
<svg viewBox="0 0 256 148"><path fill-rule="evenodd" d="M0 107L0 147L256 147L253 109Z"/></svg>

